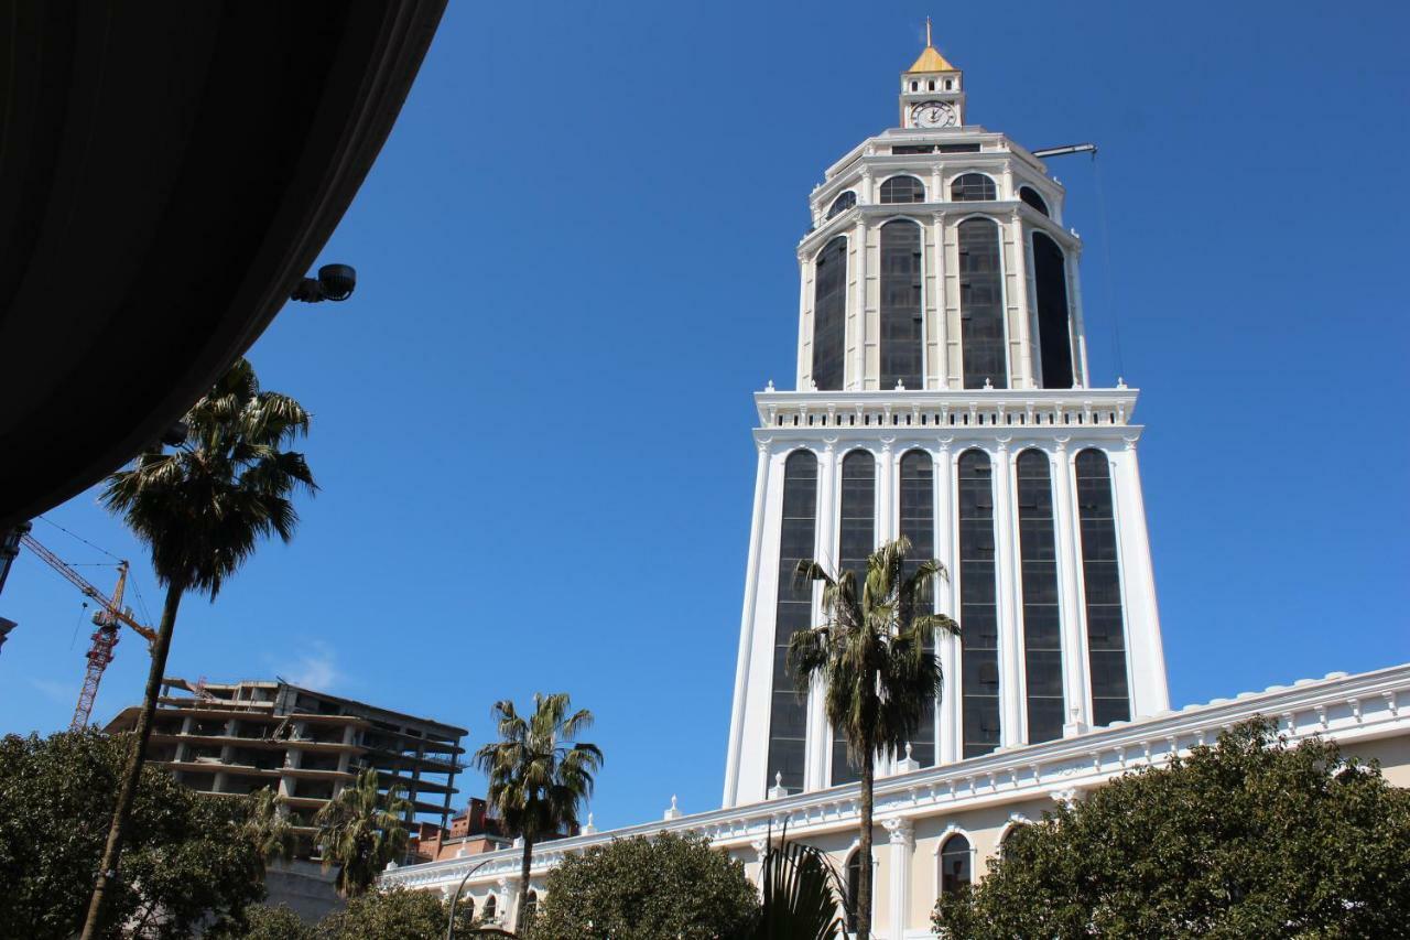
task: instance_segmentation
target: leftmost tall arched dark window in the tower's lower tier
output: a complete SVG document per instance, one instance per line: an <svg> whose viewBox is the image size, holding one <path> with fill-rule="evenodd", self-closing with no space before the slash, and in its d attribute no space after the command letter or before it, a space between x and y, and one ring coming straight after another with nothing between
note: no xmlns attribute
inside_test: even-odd
<svg viewBox="0 0 1410 940"><path fill-rule="evenodd" d="M784 508L778 531L778 604L774 614L774 683L768 716L768 785L783 773L790 792L802 789L808 737L807 696L794 692L788 641L812 627L812 583L798 583L798 562L816 552L818 457L795 450L784 464Z"/></svg>

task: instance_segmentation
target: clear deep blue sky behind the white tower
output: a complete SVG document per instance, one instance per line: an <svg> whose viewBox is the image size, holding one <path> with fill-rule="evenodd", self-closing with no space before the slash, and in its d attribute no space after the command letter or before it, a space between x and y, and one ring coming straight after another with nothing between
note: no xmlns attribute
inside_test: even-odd
<svg viewBox="0 0 1410 940"><path fill-rule="evenodd" d="M453 4L324 253L357 295L251 353L314 412L323 491L290 546L186 601L171 672L279 673L471 745L494 700L570 690L606 751L599 826L718 806L750 392L792 382L808 192L895 121L926 13L970 120L1101 145L1052 168L1093 380L1144 390L1173 704L1410 661L1407 7L977 10ZM155 615L93 493L49 518L138 562ZM0 730L68 724L79 603L17 562ZM97 717L144 676L128 634Z"/></svg>

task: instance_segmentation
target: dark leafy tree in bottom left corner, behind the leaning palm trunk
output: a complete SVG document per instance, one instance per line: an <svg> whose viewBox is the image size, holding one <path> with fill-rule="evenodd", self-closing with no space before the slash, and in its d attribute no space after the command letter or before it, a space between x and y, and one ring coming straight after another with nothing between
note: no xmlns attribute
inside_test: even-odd
<svg viewBox="0 0 1410 940"><path fill-rule="evenodd" d="M0 740L0 937L66 940L83 923L130 735L70 731ZM248 800L207 796L144 768L123 871L97 936L186 937L214 917L240 923L264 898L254 845L230 838Z"/></svg>

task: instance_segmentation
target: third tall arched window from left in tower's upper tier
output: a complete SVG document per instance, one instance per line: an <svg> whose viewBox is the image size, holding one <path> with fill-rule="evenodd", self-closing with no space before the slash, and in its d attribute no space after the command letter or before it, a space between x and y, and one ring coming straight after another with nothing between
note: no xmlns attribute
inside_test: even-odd
<svg viewBox="0 0 1410 940"><path fill-rule="evenodd" d="M960 343L964 388L1008 388L1004 356L1004 264L998 223L966 219L959 224ZM821 385L819 385L821 388Z"/></svg>

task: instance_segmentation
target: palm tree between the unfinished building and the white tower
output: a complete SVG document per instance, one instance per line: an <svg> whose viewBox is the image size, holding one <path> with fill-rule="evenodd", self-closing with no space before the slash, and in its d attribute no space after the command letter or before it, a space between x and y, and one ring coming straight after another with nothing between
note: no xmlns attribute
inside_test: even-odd
<svg viewBox="0 0 1410 940"><path fill-rule="evenodd" d="M534 713L527 720L519 717L513 701L496 701L492 714L499 741L475 752L475 766L489 776L489 805L509 831L523 838L516 927L522 926L534 843L578 824L578 809L592 796L592 778L602 766L598 745L577 741L592 727L591 711L580 709L570 714L567 692L551 696L536 692L533 701Z"/></svg>

